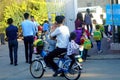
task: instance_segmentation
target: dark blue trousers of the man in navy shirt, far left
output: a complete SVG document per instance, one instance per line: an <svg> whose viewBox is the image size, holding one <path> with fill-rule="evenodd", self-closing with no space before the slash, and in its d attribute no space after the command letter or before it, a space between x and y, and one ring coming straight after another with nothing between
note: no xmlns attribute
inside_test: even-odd
<svg viewBox="0 0 120 80"><path fill-rule="evenodd" d="M18 51L17 39L8 41L8 47L10 62L13 63L13 51L14 51L14 64L17 64L17 51Z"/></svg>

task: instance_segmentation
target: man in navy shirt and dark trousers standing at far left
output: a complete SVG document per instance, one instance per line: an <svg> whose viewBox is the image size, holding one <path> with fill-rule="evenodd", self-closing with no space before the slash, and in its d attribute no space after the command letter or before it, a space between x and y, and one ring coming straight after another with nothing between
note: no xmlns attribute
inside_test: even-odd
<svg viewBox="0 0 120 80"><path fill-rule="evenodd" d="M8 27L6 28L6 36L8 38L8 47L9 47L9 57L10 64L13 64L13 52L14 52L14 65L17 66L17 51L18 51L18 41L17 41L17 32L18 28L13 25L13 19L9 18L7 20Z"/></svg>

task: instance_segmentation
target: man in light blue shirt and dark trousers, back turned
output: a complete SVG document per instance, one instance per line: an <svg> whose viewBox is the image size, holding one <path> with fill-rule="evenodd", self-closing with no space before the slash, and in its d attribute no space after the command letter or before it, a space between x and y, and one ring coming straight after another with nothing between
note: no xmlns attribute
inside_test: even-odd
<svg viewBox="0 0 120 80"><path fill-rule="evenodd" d="M24 18L25 20L21 23L21 26L24 37L25 59L26 59L26 63L31 63L32 53L33 53L33 41L36 32L35 32L34 23L29 20L28 13L24 13Z"/></svg>

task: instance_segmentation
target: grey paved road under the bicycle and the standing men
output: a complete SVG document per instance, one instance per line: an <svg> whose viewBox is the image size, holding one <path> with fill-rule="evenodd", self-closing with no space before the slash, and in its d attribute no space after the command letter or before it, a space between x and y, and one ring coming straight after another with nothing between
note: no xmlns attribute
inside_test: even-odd
<svg viewBox="0 0 120 80"><path fill-rule="evenodd" d="M79 80L120 80L119 54L91 54L83 63L83 71ZM47 70L40 80L66 80L63 77L52 77L53 72ZM29 72L29 64L25 63L23 42L19 42L18 66L9 65L8 47L0 45L0 80L36 80Z"/></svg>

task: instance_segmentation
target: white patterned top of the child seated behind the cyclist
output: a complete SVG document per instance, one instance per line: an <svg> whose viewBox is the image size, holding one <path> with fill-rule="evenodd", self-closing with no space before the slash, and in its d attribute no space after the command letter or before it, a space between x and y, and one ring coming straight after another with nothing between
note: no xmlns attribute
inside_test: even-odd
<svg viewBox="0 0 120 80"><path fill-rule="evenodd" d="M69 42L68 47L67 47L67 55L74 54L75 49L79 49L79 45L75 43L74 40L71 40L71 42Z"/></svg>

